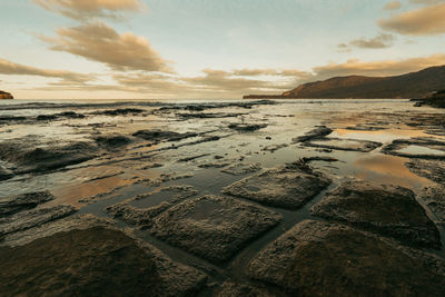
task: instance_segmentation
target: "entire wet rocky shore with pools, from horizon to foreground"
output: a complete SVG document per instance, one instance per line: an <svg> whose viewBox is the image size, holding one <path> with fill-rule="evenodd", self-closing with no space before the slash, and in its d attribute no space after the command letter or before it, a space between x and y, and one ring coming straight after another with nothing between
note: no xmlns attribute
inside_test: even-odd
<svg viewBox="0 0 445 297"><path fill-rule="evenodd" d="M0 106L0 295L443 296L445 110Z"/></svg>

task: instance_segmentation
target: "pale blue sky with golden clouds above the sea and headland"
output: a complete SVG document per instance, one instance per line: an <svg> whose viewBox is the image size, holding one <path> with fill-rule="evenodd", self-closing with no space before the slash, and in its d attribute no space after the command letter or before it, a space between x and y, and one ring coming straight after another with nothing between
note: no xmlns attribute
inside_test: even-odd
<svg viewBox="0 0 445 297"><path fill-rule="evenodd" d="M445 0L1 0L18 99L240 98L445 65Z"/></svg>

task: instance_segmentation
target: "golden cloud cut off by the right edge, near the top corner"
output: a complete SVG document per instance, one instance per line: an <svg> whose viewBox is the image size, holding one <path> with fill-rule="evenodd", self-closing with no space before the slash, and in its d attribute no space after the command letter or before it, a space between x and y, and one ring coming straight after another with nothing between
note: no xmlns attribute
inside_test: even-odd
<svg viewBox="0 0 445 297"><path fill-rule="evenodd" d="M380 19L378 24L385 30L407 36L442 34L445 33L445 3L441 2Z"/></svg>

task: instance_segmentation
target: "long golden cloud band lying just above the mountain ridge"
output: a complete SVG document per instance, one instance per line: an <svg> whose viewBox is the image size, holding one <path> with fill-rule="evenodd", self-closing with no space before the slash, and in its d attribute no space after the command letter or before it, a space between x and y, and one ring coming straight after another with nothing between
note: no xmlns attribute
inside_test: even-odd
<svg viewBox="0 0 445 297"><path fill-rule="evenodd" d="M404 60L382 60L365 62L357 59L344 63L328 63L315 67L312 81L323 80L340 76L398 76L407 72L418 71L433 66L445 65L445 55L437 53L424 58L409 58Z"/></svg>

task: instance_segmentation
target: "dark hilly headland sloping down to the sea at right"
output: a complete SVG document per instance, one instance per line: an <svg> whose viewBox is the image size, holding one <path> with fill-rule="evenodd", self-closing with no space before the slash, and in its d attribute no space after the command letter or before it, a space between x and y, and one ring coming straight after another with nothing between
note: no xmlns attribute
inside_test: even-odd
<svg viewBox="0 0 445 297"><path fill-rule="evenodd" d="M308 82L278 96L245 96L245 98L423 98L445 89L445 66L394 77L335 77Z"/></svg>

